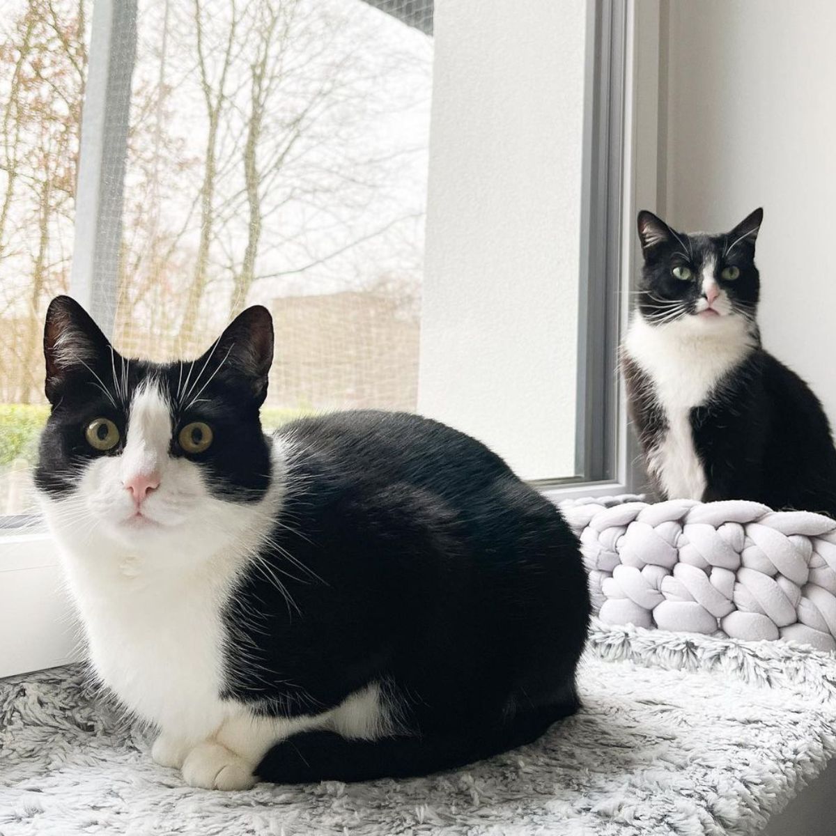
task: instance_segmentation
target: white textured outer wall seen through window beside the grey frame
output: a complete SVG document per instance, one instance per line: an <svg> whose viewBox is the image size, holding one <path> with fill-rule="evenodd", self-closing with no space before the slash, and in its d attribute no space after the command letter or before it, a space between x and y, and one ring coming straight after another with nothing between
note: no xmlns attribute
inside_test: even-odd
<svg viewBox="0 0 836 836"><path fill-rule="evenodd" d="M418 408L574 472L586 3L436 0Z"/></svg>

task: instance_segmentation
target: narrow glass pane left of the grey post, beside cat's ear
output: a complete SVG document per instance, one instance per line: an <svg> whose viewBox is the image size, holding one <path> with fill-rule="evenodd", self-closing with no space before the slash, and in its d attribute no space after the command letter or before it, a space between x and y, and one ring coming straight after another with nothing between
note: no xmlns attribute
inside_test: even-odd
<svg viewBox="0 0 836 836"><path fill-rule="evenodd" d="M0 15L0 517L32 507L43 314L69 285L92 0Z"/></svg>

